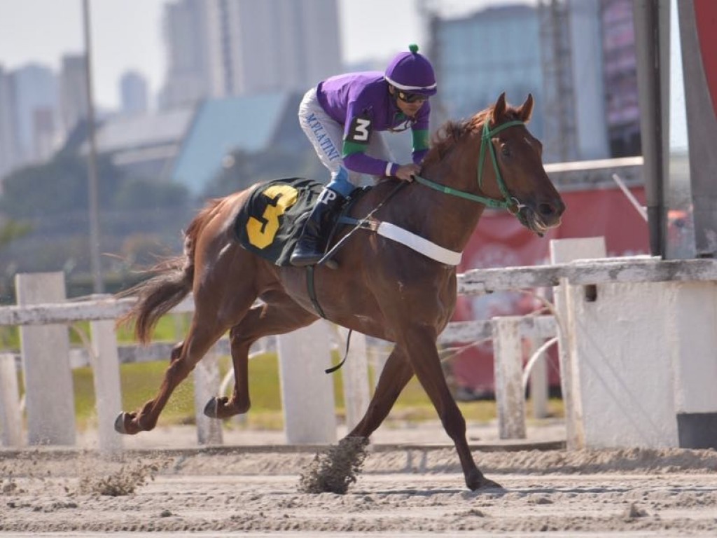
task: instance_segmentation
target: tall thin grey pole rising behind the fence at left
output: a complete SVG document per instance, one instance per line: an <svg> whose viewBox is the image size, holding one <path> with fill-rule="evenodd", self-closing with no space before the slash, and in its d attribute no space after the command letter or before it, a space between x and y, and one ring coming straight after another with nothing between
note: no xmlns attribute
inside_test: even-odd
<svg viewBox="0 0 717 538"><path fill-rule="evenodd" d="M97 146L95 143L95 105L92 100L92 48L90 38L90 1L82 0L82 15L85 27L85 88L87 90L87 197L90 219L90 264L92 266L92 289L104 293L100 267L100 217L98 211Z"/></svg>

